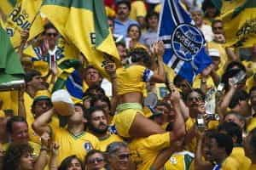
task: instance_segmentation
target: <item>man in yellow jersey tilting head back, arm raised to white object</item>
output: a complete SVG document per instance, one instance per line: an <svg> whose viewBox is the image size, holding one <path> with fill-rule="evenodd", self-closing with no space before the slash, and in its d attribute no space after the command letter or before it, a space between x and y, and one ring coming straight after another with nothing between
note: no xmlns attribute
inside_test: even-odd
<svg viewBox="0 0 256 170"><path fill-rule="evenodd" d="M67 127L52 127L48 124L54 115L53 109L44 112L33 122L32 127L36 133L42 135L47 132L52 135L53 140L60 144L57 163L60 165L67 156L76 155L84 160L87 152L99 149L99 140L85 129L85 112L83 105L76 104L71 116L67 116Z"/></svg>

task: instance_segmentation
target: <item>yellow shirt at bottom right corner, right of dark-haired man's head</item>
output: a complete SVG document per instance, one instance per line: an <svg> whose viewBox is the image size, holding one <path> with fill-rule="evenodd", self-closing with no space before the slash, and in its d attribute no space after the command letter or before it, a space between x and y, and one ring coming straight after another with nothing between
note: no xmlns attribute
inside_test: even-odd
<svg viewBox="0 0 256 170"><path fill-rule="evenodd" d="M223 162L221 169L223 170L247 170L251 165L251 161L242 147L234 147L230 156Z"/></svg>

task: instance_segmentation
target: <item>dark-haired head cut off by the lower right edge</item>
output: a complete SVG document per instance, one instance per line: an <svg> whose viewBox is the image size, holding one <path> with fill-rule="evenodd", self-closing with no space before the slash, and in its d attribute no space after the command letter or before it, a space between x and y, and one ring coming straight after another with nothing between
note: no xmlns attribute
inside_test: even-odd
<svg viewBox="0 0 256 170"><path fill-rule="evenodd" d="M248 156L252 165L249 170L256 169L256 129L254 128L252 132L249 133L244 142L244 147L246 151L246 156Z"/></svg>

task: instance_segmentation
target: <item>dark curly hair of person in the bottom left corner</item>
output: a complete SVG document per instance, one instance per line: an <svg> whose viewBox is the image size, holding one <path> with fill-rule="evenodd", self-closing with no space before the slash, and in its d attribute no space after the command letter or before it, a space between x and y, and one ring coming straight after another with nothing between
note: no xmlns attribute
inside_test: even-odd
<svg viewBox="0 0 256 170"><path fill-rule="evenodd" d="M33 149L29 144L10 144L3 156L3 169L17 170L20 166L21 156L32 152Z"/></svg>

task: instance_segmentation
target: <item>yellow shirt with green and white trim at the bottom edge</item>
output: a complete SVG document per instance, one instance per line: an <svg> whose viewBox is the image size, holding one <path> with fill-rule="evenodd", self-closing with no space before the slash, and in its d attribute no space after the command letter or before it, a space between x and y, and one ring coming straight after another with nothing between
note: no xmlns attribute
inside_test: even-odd
<svg viewBox="0 0 256 170"><path fill-rule="evenodd" d="M165 170L188 170L194 157L194 154L189 151L174 153L171 158L166 161Z"/></svg>

